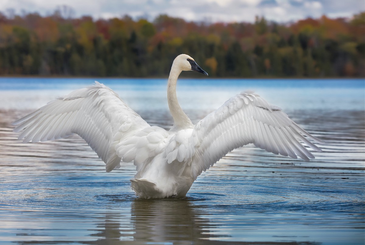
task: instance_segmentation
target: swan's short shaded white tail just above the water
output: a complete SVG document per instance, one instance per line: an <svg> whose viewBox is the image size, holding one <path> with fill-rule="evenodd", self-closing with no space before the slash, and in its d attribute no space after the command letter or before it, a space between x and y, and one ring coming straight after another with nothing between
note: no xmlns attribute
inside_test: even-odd
<svg viewBox="0 0 365 245"><path fill-rule="evenodd" d="M164 194L157 188L156 183L148 179L131 179L132 190L140 198L164 198Z"/></svg>

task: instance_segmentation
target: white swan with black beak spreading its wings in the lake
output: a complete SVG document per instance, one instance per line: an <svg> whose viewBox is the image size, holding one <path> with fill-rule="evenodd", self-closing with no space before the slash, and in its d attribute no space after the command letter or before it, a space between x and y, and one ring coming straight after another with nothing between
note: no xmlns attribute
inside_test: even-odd
<svg viewBox="0 0 365 245"><path fill-rule="evenodd" d="M139 198L183 197L193 182L231 150L253 143L268 152L309 161L320 152L318 138L254 92L231 97L193 125L176 96L177 78L194 70L208 76L187 54L172 64L167 98L174 124L150 126L104 84L78 89L13 122L23 142L80 135L105 162L106 171L134 162L131 188ZM308 140L310 139L310 140ZM312 142L313 141L313 142ZM305 144L305 145L304 145Z"/></svg>

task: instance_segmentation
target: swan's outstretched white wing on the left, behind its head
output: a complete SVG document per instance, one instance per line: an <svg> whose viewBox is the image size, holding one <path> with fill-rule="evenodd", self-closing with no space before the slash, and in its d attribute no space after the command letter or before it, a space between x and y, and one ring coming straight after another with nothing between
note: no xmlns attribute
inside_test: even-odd
<svg viewBox="0 0 365 245"><path fill-rule="evenodd" d="M48 141L80 135L107 164L107 172L119 165L115 145L134 135L148 123L119 96L95 81L95 85L71 92L49 102L12 123L22 131L23 142Z"/></svg>

